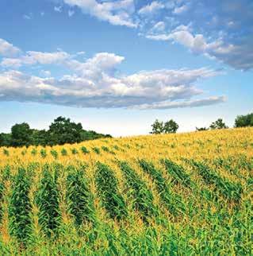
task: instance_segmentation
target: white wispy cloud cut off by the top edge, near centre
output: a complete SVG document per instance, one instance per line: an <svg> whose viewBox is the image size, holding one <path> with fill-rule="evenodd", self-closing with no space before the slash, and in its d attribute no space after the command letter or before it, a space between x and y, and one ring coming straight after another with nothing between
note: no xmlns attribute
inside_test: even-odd
<svg viewBox="0 0 253 256"><path fill-rule="evenodd" d="M120 0L117 2L102 2L96 0L63 0L69 6L78 6L83 13L98 17L102 21L108 21L113 25L125 25L136 28L132 21L132 13L135 11L133 0Z"/></svg>

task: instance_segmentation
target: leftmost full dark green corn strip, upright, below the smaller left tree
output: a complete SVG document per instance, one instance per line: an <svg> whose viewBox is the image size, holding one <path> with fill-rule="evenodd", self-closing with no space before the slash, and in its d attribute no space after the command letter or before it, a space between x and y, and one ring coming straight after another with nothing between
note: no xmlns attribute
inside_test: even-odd
<svg viewBox="0 0 253 256"><path fill-rule="evenodd" d="M25 173L25 169L18 169L17 176L14 177L12 195L10 197L10 232L16 236L19 242L25 243L29 238L31 225L29 201L30 180Z"/></svg>

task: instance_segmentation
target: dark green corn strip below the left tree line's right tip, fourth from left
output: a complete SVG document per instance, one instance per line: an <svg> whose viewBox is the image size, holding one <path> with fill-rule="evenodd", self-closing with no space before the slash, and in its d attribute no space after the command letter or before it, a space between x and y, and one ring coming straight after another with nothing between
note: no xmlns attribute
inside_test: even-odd
<svg viewBox="0 0 253 256"><path fill-rule="evenodd" d="M123 219L127 213L125 201L118 192L117 179L109 166L100 162L96 164L95 181L98 189L98 196L102 200L105 210L112 219Z"/></svg>

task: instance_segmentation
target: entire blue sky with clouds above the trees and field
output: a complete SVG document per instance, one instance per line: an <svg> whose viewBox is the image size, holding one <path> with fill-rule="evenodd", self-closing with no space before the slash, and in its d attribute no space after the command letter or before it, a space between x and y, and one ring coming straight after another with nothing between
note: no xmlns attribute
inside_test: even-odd
<svg viewBox="0 0 253 256"><path fill-rule="evenodd" d="M251 0L1 0L0 131L67 116L114 136L253 111Z"/></svg>

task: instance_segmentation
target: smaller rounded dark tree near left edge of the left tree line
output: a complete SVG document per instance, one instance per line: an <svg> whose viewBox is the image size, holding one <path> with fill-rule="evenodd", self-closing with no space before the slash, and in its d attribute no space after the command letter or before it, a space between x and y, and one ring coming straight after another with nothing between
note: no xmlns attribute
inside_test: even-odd
<svg viewBox="0 0 253 256"><path fill-rule="evenodd" d="M30 145L33 130L30 129L28 123L15 124L11 127L11 142L13 146Z"/></svg>

